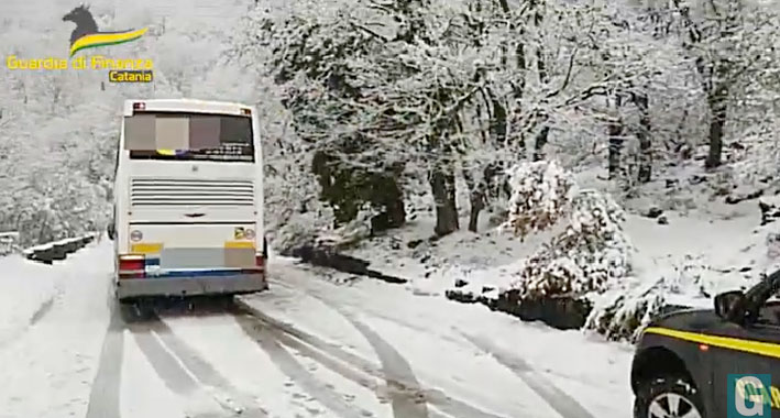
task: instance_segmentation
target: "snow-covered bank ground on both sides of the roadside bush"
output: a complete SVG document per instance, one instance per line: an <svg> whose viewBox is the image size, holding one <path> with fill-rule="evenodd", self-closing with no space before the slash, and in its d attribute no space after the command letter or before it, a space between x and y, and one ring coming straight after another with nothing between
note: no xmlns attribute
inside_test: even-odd
<svg viewBox="0 0 780 418"><path fill-rule="evenodd" d="M692 176L707 176L700 167L688 167L690 173L670 173L640 190L638 198L622 204L626 220L622 224L633 246L631 271L625 287L598 296L605 300L613 294L642 294L651 286L666 304L695 307L712 306L712 296L719 292L752 285L762 273L778 267L778 244L769 240L780 232L777 222L760 226L759 199L736 205L713 196L713 185L663 186L666 177L688 182ZM608 184L595 180L593 173L576 175L582 186L608 189ZM677 178L674 177L674 178ZM765 199L777 199L769 196ZM459 207L468 208L468 197L461 196ZM646 216L648 209L663 210L667 223ZM461 215L461 224L468 222L468 212ZM400 231L360 243L350 249L350 255L371 262L371 268L409 279L406 287L420 295L442 295L454 289L495 295L517 280L526 258L549 242L560 228L534 232L525 239L510 231L490 226L483 215L479 233L457 231L435 242L428 241L433 230L433 218L425 211Z"/></svg>

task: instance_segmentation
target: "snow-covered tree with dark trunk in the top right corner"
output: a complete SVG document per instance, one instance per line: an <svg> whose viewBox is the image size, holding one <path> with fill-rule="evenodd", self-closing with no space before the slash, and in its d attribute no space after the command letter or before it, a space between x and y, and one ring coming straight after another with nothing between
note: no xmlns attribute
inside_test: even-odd
<svg viewBox="0 0 780 418"><path fill-rule="evenodd" d="M750 0L673 0L648 9L656 35L677 42L695 68L707 110L705 166L717 167L729 116L765 96L757 87L777 74L778 10Z"/></svg>

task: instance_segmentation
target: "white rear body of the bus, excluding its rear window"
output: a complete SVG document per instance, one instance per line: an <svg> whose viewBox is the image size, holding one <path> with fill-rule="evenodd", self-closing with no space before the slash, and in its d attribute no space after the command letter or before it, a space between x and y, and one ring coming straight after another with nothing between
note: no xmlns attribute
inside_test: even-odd
<svg viewBox="0 0 780 418"><path fill-rule="evenodd" d="M138 111L134 102L143 102L144 112L251 117L254 162L131 160L123 119L114 187L117 297L266 289L255 109L188 99L128 100L125 118ZM128 268L140 273L129 276Z"/></svg>

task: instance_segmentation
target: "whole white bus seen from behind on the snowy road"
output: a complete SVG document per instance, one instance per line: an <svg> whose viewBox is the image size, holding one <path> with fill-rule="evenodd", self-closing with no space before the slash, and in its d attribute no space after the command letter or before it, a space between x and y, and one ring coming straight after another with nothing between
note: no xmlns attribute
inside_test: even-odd
<svg viewBox="0 0 780 418"><path fill-rule="evenodd" d="M118 299L267 288L259 131L251 106L125 101L109 226Z"/></svg>

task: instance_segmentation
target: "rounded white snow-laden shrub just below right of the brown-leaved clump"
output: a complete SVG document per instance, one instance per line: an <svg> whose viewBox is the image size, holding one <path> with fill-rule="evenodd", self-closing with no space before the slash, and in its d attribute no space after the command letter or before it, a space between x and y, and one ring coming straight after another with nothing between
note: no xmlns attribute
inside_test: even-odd
<svg viewBox="0 0 780 418"><path fill-rule="evenodd" d="M569 224L530 256L517 283L531 297L604 292L630 271L631 245L623 231L623 209L608 195L574 195Z"/></svg>

